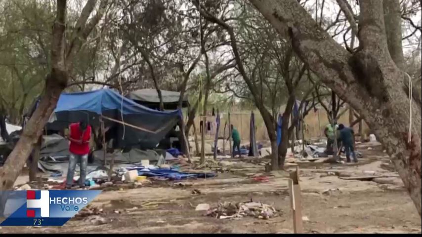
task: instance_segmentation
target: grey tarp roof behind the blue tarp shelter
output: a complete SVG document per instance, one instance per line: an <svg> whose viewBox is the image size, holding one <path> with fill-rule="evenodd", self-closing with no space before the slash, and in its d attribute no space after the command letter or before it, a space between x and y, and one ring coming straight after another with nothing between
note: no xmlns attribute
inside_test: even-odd
<svg viewBox="0 0 422 237"><path fill-rule="evenodd" d="M179 103L180 92L161 90L163 97L164 109L175 110ZM138 104L146 106L148 108L160 108L160 98L156 89L139 89L129 93L127 96L129 99L135 101ZM189 105L187 95L183 97L182 107Z"/></svg>

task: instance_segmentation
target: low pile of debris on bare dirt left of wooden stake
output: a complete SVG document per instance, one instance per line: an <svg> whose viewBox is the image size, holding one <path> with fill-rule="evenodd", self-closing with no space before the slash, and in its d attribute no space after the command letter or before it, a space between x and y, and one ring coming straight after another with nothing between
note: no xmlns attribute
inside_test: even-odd
<svg viewBox="0 0 422 237"><path fill-rule="evenodd" d="M210 208L207 211L207 216L217 219L238 219L249 216L267 220L280 215L282 215L282 212L276 210L273 206L253 201L236 204L231 202L218 203L217 207Z"/></svg>

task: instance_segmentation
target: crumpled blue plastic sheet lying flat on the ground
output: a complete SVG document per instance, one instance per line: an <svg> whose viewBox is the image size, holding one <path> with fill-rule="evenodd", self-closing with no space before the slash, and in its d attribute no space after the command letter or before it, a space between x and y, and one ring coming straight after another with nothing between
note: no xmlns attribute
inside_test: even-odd
<svg viewBox="0 0 422 237"><path fill-rule="evenodd" d="M147 177L163 177L169 180L181 180L190 178L211 178L215 177L214 173L184 173L175 169L147 169L142 166L127 167L127 170L137 170L139 176Z"/></svg>

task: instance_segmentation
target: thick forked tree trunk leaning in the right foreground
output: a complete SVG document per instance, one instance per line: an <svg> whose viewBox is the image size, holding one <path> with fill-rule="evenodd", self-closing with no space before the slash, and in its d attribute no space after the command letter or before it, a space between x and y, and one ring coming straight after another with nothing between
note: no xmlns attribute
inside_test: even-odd
<svg viewBox="0 0 422 237"><path fill-rule="evenodd" d="M382 1L359 1L360 45L353 53L319 27L296 0L250 1L281 37L291 41L310 70L375 131L421 215L422 109L417 101L409 101L407 75L390 56Z"/></svg>

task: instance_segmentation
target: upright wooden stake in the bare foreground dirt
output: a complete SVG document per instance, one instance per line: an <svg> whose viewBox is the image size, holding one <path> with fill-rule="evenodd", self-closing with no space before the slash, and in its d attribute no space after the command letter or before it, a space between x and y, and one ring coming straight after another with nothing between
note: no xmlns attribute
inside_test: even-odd
<svg viewBox="0 0 422 237"><path fill-rule="evenodd" d="M299 168L297 166L295 171L290 172L289 194L293 213L293 230L295 234L301 234L303 233L302 200L299 186Z"/></svg>

